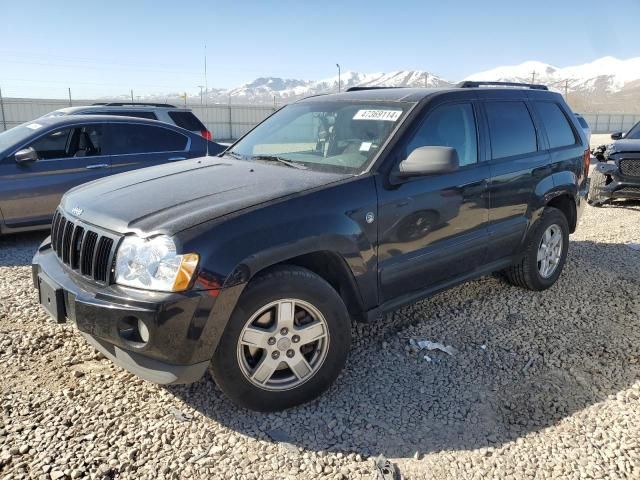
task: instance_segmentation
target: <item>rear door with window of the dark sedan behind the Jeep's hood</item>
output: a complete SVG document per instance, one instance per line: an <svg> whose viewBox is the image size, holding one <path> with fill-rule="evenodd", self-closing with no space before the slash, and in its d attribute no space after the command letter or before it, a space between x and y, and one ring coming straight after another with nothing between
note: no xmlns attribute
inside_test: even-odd
<svg viewBox="0 0 640 480"><path fill-rule="evenodd" d="M163 127L138 123L106 125L106 152L113 173L151 167L194 156L191 137Z"/></svg>

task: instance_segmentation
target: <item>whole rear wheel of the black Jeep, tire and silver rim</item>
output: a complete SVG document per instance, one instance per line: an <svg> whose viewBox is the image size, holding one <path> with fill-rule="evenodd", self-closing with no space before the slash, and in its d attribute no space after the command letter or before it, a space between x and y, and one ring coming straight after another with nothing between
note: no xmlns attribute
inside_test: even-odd
<svg viewBox="0 0 640 480"><path fill-rule="evenodd" d="M544 259L539 261L540 250L544 251L543 236L551 232L554 236L545 237L561 240L560 251L552 249L547 257L547 264L550 266L555 260L553 270L545 269ZM555 232L555 233L554 233ZM555 236L557 235L557 236ZM552 242L555 240L552 240ZM552 242L549 242L550 244ZM569 247L569 223L564 214L557 208L547 207L542 212L542 216L534 226L532 234L527 240L523 250L522 258L504 271L509 283L529 290L545 290L553 285L562 273L567 259ZM547 250L548 252L548 250ZM546 273L546 275L545 275Z"/></svg>

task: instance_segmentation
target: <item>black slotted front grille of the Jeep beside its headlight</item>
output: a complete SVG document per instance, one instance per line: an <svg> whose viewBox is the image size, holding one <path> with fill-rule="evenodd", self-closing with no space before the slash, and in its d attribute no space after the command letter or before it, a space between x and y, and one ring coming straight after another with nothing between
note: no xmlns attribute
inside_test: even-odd
<svg viewBox="0 0 640 480"><path fill-rule="evenodd" d="M62 263L100 283L111 283L119 238L74 222L59 210L51 222L51 246Z"/></svg>

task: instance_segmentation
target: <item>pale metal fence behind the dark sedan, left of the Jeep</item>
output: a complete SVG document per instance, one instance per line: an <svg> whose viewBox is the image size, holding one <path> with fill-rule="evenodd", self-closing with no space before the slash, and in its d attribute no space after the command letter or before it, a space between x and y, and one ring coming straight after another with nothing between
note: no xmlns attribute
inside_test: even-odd
<svg viewBox="0 0 640 480"><path fill-rule="evenodd" d="M100 102L108 100L101 99ZM122 100L119 100L122 101ZM0 104L0 131L29 122L53 110L70 106L91 105L98 100L52 100L35 98L3 98ZM177 105L183 107L183 105ZM209 104L207 106L187 103L196 116L212 132L214 139L231 140L244 135L256 123L271 115L278 107L274 105Z"/></svg>

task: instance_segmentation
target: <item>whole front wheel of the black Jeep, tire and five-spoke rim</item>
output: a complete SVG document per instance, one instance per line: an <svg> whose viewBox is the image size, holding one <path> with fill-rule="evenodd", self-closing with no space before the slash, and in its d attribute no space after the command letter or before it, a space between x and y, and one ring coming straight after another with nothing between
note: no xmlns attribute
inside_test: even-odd
<svg viewBox="0 0 640 480"><path fill-rule="evenodd" d="M277 411L308 402L329 388L350 346L349 314L333 287L307 269L284 265L251 280L242 293L211 372L236 404Z"/></svg>

